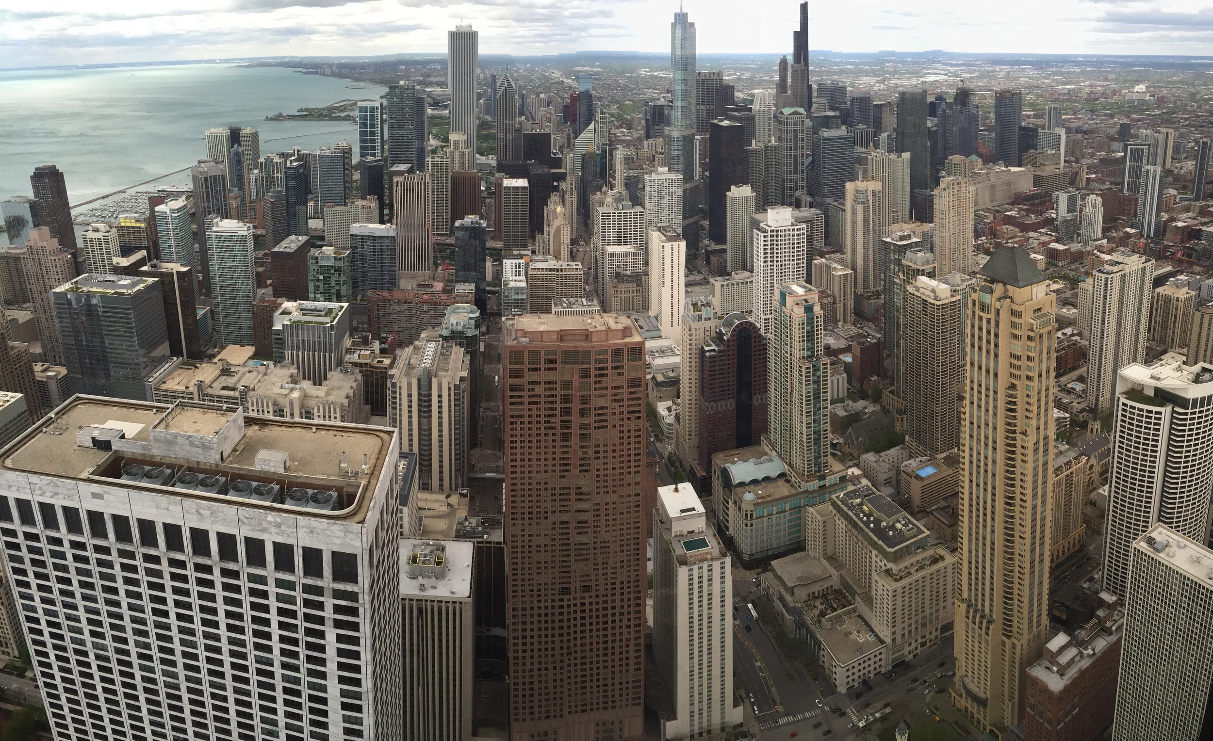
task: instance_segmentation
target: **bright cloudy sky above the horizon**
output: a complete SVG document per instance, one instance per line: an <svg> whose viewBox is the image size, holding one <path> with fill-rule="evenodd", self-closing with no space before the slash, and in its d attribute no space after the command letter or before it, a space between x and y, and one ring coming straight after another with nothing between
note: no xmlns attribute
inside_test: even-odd
<svg viewBox="0 0 1213 741"><path fill-rule="evenodd" d="M815 0L809 44L837 51L1213 56L1213 0L1010 5L1012 12L1002 2L974 0ZM480 32L482 53L664 51L676 7L670 0L0 0L0 68L445 52L445 32L461 21ZM687 0L685 10L696 21L701 52L791 51L795 0Z"/></svg>

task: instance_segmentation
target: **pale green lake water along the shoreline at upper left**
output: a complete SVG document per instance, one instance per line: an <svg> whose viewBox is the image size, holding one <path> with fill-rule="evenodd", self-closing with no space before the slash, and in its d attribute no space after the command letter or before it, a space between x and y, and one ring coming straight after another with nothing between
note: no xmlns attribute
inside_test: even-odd
<svg viewBox="0 0 1213 741"><path fill-rule="evenodd" d="M33 195L29 175L38 165L58 166L73 205L158 178L205 156L203 135L216 126L257 129L262 154L357 146L351 122L264 118L382 92L280 67L0 70L0 199ZM187 171L139 189L188 182Z"/></svg>

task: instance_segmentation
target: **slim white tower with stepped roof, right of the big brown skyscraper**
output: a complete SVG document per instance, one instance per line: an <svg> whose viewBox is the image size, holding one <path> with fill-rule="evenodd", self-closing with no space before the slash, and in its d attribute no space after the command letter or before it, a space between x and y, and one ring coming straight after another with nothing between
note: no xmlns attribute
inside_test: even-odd
<svg viewBox="0 0 1213 741"><path fill-rule="evenodd" d="M730 558L689 484L657 490L653 540L653 652L674 707L662 737L730 737L741 724Z"/></svg>

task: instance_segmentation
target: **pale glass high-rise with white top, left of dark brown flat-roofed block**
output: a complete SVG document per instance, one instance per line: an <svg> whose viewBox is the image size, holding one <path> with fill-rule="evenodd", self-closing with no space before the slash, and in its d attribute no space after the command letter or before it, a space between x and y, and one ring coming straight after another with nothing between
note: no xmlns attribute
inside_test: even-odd
<svg viewBox="0 0 1213 741"><path fill-rule="evenodd" d="M211 256L211 317L216 343L252 344L252 298L257 285L252 226L221 218L206 233Z"/></svg>

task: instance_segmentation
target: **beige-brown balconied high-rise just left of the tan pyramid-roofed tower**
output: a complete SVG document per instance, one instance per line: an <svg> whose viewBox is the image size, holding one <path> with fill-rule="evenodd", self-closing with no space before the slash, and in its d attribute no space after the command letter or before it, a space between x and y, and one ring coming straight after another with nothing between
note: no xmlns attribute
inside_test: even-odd
<svg viewBox="0 0 1213 741"><path fill-rule="evenodd" d="M961 444L967 300L963 291L926 277L901 292L898 369L912 455L936 456Z"/></svg>

